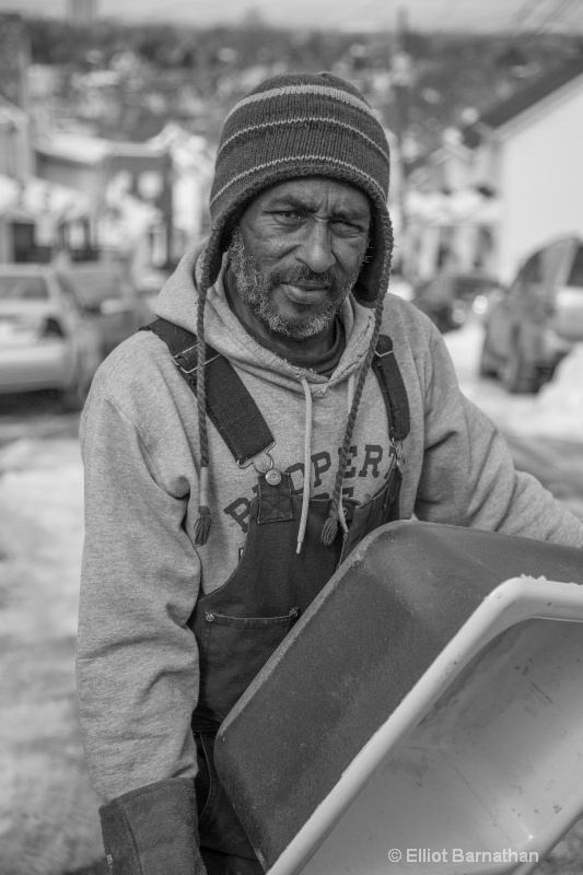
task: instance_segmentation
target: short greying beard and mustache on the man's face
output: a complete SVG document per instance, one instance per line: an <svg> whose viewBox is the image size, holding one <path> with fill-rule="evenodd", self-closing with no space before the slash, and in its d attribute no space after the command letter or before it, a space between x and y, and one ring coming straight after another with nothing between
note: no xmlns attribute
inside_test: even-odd
<svg viewBox="0 0 583 875"><path fill-rule="evenodd" d="M243 234L235 228L229 246L230 269L241 300L270 331L292 340L304 340L325 330L342 306L360 273L360 267L339 283L330 271L316 273L308 267L290 267L273 273L264 273L256 259L245 250ZM302 282L322 282L328 287L326 301L314 313L313 304L296 304L298 315L282 315L273 300L278 285Z"/></svg>

